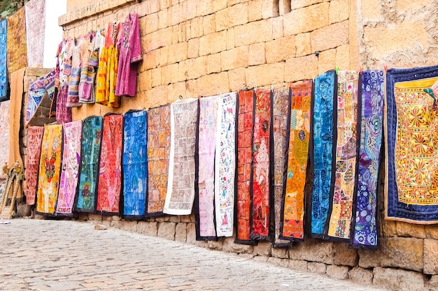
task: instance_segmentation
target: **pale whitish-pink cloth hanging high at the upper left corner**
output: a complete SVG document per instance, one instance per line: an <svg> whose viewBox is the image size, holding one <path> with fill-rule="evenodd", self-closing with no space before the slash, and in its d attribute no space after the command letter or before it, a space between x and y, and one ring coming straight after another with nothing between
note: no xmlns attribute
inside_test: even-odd
<svg viewBox="0 0 438 291"><path fill-rule="evenodd" d="M43 68L45 37L45 0L26 3L27 66Z"/></svg>

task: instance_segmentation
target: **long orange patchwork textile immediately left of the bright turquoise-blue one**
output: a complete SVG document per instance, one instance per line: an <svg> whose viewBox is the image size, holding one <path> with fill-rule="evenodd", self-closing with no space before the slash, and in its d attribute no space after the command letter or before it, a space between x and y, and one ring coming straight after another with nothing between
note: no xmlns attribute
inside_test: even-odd
<svg viewBox="0 0 438 291"><path fill-rule="evenodd" d="M286 183L281 200L280 238L304 239L304 187L311 137L312 82L292 84ZM283 178L284 179L284 178Z"/></svg>

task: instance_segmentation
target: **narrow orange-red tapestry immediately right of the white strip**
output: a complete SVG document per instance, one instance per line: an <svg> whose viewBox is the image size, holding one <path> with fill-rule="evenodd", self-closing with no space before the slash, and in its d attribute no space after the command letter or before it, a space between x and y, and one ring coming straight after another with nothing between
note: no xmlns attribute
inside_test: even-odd
<svg viewBox="0 0 438 291"><path fill-rule="evenodd" d="M237 234L236 243L255 244L250 240L250 179L253 175L254 91L239 92L237 116Z"/></svg>

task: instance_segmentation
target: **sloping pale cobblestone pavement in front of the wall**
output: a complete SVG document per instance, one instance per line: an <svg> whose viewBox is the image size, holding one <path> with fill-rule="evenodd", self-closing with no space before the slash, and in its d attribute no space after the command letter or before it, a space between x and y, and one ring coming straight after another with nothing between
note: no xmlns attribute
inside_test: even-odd
<svg viewBox="0 0 438 291"><path fill-rule="evenodd" d="M0 290L383 290L90 223L9 222Z"/></svg>

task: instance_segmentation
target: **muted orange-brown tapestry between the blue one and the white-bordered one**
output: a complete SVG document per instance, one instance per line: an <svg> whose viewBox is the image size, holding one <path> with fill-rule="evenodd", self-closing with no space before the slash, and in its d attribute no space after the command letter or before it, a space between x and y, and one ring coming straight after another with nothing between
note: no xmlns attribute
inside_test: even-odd
<svg viewBox="0 0 438 291"><path fill-rule="evenodd" d="M163 214L170 156L170 105L148 110L148 200L146 216Z"/></svg>

